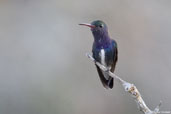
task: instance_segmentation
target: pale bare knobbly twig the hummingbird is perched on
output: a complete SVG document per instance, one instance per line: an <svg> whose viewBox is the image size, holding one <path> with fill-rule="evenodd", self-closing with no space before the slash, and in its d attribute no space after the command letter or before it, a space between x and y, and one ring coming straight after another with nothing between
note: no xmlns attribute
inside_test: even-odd
<svg viewBox="0 0 171 114"><path fill-rule="evenodd" d="M138 89L136 88L136 86L134 84L131 84L129 82L124 81L119 76L117 76L114 73L112 73L111 71L109 71L105 66L103 66L102 64L97 62L90 54L86 54L86 55L97 66L99 66L101 70L107 72L110 76L112 76L113 78L117 79L117 81L119 81L122 84L122 86L125 89L125 91L131 94L131 96L133 97L133 99L137 103L137 106L138 106L140 111L142 111L144 114L157 114L157 113L159 113L159 109L160 109L160 106L161 106L161 101L160 101L159 105L154 109L154 111L150 110L147 107L147 105L145 104L144 100L141 97L140 92L138 91Z"/></svg>

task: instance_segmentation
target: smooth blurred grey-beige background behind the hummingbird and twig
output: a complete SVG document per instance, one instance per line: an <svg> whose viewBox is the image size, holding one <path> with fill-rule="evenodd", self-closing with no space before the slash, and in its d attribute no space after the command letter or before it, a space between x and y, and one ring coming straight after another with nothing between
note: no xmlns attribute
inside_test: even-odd
<svg viewBox="0 0 171 114"><path fill-rule="evenodd" d="M142 114L85 56L93 37L78 24L97 19L118 43L115 73L170 111L170 0L0 0L0 114Z"/></svg>

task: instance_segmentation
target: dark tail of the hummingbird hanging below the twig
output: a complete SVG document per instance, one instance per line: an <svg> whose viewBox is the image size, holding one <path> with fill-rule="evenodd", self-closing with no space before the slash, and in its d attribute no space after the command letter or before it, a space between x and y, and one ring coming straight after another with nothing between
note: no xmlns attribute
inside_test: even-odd
<svg viewBox="0 0 171 114"><path fill-rule="evenodd" d="M113 77L109 76L107 73L103 72L97 65L97 71L98 71L98 74L99 74L99 77L100 77L100 80L103 84L103 86L108 89L112 89L113 88L113 82L114 82L114 79Z"/></svg>

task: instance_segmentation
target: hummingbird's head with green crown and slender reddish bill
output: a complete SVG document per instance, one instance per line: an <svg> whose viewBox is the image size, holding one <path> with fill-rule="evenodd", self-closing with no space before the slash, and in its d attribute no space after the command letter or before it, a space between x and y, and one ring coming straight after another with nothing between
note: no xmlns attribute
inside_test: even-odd
<svg viewBox="0 0 171 114"><path fill-rule="evenodd" d="M95 38L108 35L107 25L101 20L93 21L91 24L81 23L79 25L90 27Z"/></svg>

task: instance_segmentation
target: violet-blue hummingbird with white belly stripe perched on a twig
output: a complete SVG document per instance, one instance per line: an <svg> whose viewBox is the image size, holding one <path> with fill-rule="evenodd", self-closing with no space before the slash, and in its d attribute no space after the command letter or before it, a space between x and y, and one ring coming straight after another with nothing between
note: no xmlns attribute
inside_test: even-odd
<svg viewBox="0 0 171 114"><path fill-rule="evenodd" d="M79 25L87 26L91 29L94 37L92 46L93 58L104 65L108 71L114 72L118 60L118 49L116 41L111 39L108 34L107 25L101 20L93 21L91 24L81 23ZM103 86L106 89L112 89L114 85L113 77L101 70L97 65L96 68Z"/></svg>

